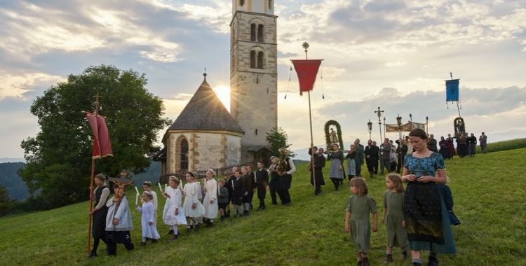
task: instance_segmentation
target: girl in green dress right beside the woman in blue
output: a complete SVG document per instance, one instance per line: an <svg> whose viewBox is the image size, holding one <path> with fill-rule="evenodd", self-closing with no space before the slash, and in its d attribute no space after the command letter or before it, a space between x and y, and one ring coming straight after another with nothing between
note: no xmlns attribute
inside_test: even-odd
<svg viewBox="0 0 526 266"><path fill-rule="evenodd" d="M382 224L387 228L387 255L384 263L393 262L393 246L402 248L403 260L407 259L409 240L405 231L404 195L405 189L399 174L388 174L385 179L384 216Z"/></svg>

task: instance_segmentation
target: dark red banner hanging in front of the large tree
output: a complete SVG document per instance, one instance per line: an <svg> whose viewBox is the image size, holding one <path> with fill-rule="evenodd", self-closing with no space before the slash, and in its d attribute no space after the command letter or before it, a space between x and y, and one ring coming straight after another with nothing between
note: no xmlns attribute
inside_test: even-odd
<svg viewBox="0 0 526 266"><path fill-rule="evenodd" d="M93 159L113 156L112 141L109 139L108 127L104 117L86 112L86 118L93 131Z"/></svg>

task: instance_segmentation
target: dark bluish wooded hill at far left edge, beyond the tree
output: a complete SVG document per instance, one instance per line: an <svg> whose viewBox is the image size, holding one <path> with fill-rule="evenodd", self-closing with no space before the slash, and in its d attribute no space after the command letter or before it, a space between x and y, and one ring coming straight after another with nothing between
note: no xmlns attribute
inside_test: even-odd
<svg viewBox="0 0 526 266"><path fill-rule="evenodd" d="M18 169L24 167L23 162L0 163L0 185L6 187L11 200L23 201L29 197L29 191L24 181L18 176Z"/></svg>

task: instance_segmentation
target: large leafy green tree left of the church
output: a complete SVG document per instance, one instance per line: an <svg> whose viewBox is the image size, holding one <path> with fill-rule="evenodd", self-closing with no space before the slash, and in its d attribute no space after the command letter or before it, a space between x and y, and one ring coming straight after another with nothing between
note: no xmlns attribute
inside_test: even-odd
<svg viewBox="0 0 526 266"><path fill-rule="evenodd" d="M52 209L89 198L93 134L82 111L93 111L97 92L114 157L97 160L95 171L116 176L121 169L140 173L149 166L149 156L159 151L157 132L171 122L162 117L162 100L145 85L144 73L90 66L34 100L30 111L41 131L22 141L27 163L20 170L33 202Z"/></svg>

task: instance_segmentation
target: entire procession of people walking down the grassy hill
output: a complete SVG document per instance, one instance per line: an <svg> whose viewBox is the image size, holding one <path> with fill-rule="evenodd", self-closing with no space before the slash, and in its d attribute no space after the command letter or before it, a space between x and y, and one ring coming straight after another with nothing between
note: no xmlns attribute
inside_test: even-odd
<svg viewBox="0 0 526 266"><path fill-rule="evenodd" d="M470 138L473 137L471 134ZM450 138L449 135L448 139ZM479 138L479 143L484 146L483 152L486 138L484 133ZM321 186L325 185L323 167L327 160L331 161L329 173L335 190L342 186L345 176L349 179L352 196L347 202L345 230L351 232L358 265L369 265L367 253L371 231L370 214L374 218L372 231L377 231L376 202L367 195L367 182L361 175L364 159L371 178L378 173L378 166L381 175L384 170L389 173L386 175L387 191L384 194L382 216L388 238L385 262L393 262L393 246L402 248L403 259L411 255L413 265L422 265L423 250L430 251L428 265L438 265L438 253L456 252L450 225L457 225L459 221L452 213L452 194L445 185L447 176L444 158L451 156L445 156L444 150L450 151L452 146L447 141L441 138L438 143L439 152L433 134L428 136L423 130L412 130L405 139L394 141L398 144L396 148L389 139L384 139L379 147L371 140L364 147L356 139L346 155L337 144L333 144L332 151L329 152L317 147L309 151L313 158L309 170L314 195L320 195ZM457 143L460 144L458 139ZM471 142L466 141L466 144ZM468 151L470 150L472 149L468 145ZM254 209L254 195L259 200L256 211L262 211L266 209L267 191L271 195L272 204L278 204L279 198L281 204L290 206L289 189L292 174L296 171L294 162L288 156L273 156L271 163L269 169L264 168L263 162L257 162L257 169L252 165L233 167L231 171L224 172L224 179L217 180L213 169L208 169L206 177L201 181L196 172L187 172L187 183L184 186L180 179L170 176L168 186L164 189L160 187L161 195L166 198L162 221L169 228L169 240L178 239L179 225L184 225L186 232L191 233L203 225L213 227L217 216L221 222L225 218L250 216ZM95 176L95 207L90 212L93 216L94 242L89 258L97 256L100 240L107 244L109 255L116 254L116 244L124 244L128 250L134 248L129 232L132 221L126 195L121 197L120 202L116 201L119 186L114 186L115 195L110 197L105 181L104 175ZM405 188L403 182L407 183ZM136 199L135 209L141 213L140 244L144 246L147 241L155 243L161 236L157 231L157 195L151 190L151 183L148 181L142 187L142 207Z"/></svg>

